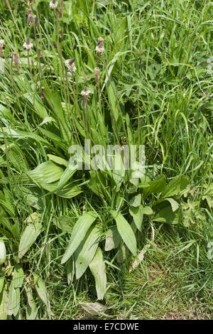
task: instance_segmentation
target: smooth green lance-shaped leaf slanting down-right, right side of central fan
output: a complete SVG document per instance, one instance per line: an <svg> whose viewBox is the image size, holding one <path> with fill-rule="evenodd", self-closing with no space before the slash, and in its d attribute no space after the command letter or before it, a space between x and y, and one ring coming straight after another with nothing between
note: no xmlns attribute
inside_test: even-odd
<svg viewBox="0 0 213 334"><path fill-rule="evenodd" d="M119 235L121 235L121 238L124 240L129 250L134 255L136 255L136 251L137 251L136 237L133 233L133 230L131 229L131 226L126 221L124 216L121 215L121 212L116 212L115 210L111 210L110 213L112 217L114 217L114 220L116 221Z"/></svg>

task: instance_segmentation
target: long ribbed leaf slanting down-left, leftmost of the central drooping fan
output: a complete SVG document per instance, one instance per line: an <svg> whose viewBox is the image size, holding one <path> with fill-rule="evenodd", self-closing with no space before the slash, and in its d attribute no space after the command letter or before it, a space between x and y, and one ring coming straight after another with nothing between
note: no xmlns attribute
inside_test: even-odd
<svg viewBox="0 0 213 334"><path fill-rule="evenodd" d="M67 260L70 259L70 257L75 252L77 247L79 247L87 231L89 230L89 227L92 225L94 220L96 220L96 218L97 218L97 213L93 211L89 211L87 213L84 213L84 215L82 215L77 220L72 230L72 236L68 244L67 250L64 256L62 257L62 261L61 261L62 264L67 262Z"/></svg>

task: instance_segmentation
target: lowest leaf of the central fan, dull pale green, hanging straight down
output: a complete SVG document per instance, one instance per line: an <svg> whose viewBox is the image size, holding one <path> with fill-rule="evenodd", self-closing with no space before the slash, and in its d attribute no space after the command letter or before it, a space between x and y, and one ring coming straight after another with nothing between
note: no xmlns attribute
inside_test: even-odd
<svg viewBox="0 0 213 334"><path fill-rule="evenodd" d="M89 269L94 276L97 298L103 299L107 289L106 266L103 259L102 249L98 248L92 262L89 264Z"/></svg>

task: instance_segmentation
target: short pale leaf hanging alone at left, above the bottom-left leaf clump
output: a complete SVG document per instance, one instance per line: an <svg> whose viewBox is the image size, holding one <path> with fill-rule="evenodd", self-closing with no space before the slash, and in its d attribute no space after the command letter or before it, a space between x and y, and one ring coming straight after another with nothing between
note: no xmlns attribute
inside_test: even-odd
<svg viewBox="0 0 213 334"><path fill-rule="evenodd" d="M26 229L23 231L23 235L21 236L21 240L19 242L18 259L21 259L23 255L26 254L28 249L37 239L38 235L40 235L41 230L42 226L40 222L33 222L32 224L26 227Z"/></svg>

